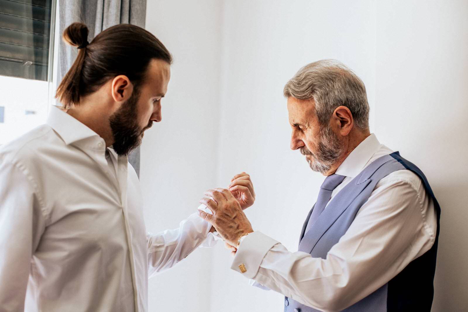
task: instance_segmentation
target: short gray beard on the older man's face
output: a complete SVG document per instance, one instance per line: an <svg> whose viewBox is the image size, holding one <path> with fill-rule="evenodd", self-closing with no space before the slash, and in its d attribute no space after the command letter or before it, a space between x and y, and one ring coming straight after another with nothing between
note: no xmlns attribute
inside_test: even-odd
<svg viewBox="0 0 468 312"><path fill-rule="evenodd" d="M317 151L312 153L307 149L306 146L300 148L302 155L311 155L314 159L307 159L309 166L312 170L325 174L333 166L344 152L344 144L336 136L330 126L326 126L320 131L319 143L317 145Z"/></svg>

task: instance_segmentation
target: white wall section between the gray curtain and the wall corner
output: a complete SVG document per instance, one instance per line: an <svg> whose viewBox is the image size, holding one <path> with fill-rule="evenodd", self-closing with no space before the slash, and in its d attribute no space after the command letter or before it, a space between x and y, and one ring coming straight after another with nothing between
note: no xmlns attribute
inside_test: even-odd
<svg viewBox="0 0 468 312"><path fill-rule="evenodd" d="M150 232L178 227L216 184L220 8L216 0L147 2L146 29L174 56L162 122L146 132L141 147ZM209 311L211 253L196 250L150 279L149 311Z"/></svg>

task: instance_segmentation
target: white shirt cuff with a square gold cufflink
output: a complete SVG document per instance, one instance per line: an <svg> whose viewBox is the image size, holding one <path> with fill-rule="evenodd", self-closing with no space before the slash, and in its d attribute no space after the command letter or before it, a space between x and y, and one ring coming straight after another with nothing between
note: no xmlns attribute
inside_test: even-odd
<svg viewBox="0 0 468 312"><path fill-rule="evenodd" d="M265 254L276 244L278 241L262 232L249 233L237 249L231 268L247 278L253 278L258 272Z"/></svg>

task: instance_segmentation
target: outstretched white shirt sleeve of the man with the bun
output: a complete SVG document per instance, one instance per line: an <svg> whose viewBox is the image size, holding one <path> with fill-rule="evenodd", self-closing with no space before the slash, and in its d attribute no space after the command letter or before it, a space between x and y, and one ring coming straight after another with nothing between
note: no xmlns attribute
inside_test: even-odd
<svg viewBox="0 0 468 312"><path fill-rule="evenodd" d="M166 230L155 235L148 233L146 242L149 276L173 267L188 256L205 241L211 226L197 213L193 213L181 221L179 228L175 230Z"/></svg>

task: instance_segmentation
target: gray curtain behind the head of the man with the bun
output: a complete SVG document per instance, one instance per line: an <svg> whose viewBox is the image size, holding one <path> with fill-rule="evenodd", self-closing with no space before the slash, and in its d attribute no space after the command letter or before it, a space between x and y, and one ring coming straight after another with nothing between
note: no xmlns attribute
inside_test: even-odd
<svg viewBox="0 0 468 312"><path fill-rule="evenodd" d="M61 0L59 3L60 33L73 22L83 22L88 26L88 41L102 30L127 23L145 27L146 0ZM78 50L60 40L59 77L60 81L72 66ZM129 156L129 162L140 173L140 148Z"/></svg>

